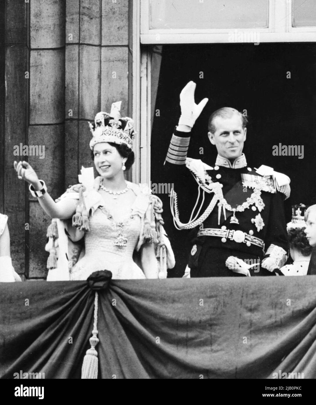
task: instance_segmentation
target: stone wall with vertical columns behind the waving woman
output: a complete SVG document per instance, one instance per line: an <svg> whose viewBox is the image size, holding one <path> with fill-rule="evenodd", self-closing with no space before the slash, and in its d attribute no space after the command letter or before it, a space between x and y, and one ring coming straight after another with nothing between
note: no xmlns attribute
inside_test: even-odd
<svg viewBox="0 0 316 405"><path fill-rule="evenodd" d="M82 165L92 166L88 121L118 100L122 114L131 114L131 10L128 0L6 0L4 7L0 212L9 216L15 270L43 279L50 219L18 181L13 161L27 160L53 198L78 183ZM21 143L44 146L44 158L14 156Z"/></svg>

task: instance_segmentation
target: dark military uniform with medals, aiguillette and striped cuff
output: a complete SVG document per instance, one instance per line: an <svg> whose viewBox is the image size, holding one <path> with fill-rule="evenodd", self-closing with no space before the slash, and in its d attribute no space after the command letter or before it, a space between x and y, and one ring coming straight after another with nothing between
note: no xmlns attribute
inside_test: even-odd
<svg viewBox="0 0 316 405"><path fill-rule="evenodd" d="M287 260L284 198L289 197L289 178L277 173L283 176L281 186L273 169L269 168L272 174L257 173L244 153L234 162L218 155L208 166L187 158L189 142L190 132L175 130L165 162L175 185L175 225L190 229L186 273L190 268L190 277L275 275L259 263L271 256L280 268ZM238 258L234 271L227 263L232 257Z"/></svg>

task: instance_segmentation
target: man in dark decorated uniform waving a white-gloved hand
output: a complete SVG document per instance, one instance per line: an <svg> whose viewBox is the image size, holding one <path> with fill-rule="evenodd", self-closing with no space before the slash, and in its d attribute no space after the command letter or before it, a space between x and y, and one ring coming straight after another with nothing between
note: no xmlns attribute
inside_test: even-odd
<svg viewBox="0 0 316 405"><path fill-rule="evenodd" d="M248 166L242 153L248 121L230 107L209 118L215 164L188 158L191 130L208 101L195 103L195 87L190 81L181 91L181 117L164 163L168 181L175 184L174 224L191 230L183 277L282 275L289 252L284 199L290 179L268 166Z"/></svg>

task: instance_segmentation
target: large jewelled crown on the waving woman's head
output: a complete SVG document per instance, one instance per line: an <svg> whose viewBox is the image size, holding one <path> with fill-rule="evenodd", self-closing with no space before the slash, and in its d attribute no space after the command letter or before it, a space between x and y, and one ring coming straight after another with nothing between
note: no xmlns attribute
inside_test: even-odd
<svg viewBox="0 0 316 405"><path fill-rule="evenodd" d="M95 116L94 124L89 122L92 132L90 149L100 142L125 143L129 148L133 147L134 121L129 117L121 118L120 109L122 101L112 103L111 112L101 111Z"/></svg>

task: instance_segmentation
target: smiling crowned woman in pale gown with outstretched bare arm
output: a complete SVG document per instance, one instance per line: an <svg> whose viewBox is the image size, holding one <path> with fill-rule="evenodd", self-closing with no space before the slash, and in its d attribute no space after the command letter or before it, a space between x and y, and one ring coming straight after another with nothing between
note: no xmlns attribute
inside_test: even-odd
<svg viewBox="0 0 316 405"><path fill-rule="evenodd" d="M27 162L15 162L19 178L53 218L48 228L47 280L84 280L109 270L113 279L165 278L175 265L162 227L162 203L147 185L126 181L134 162L133 120L120 117L120 104L100 112L90 124L93 169L83 169L82 184L69 188L56 202ZM80 243L80 241L84 241ZM84 246L83 246L84 245ZM57 260L58 256L58 260Z"/></svg>

